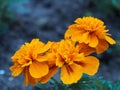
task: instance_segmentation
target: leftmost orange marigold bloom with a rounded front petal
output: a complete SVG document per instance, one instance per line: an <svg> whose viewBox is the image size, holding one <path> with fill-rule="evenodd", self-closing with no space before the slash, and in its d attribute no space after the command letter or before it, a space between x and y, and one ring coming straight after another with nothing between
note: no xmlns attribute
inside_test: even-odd
<svg viewBox="0 0 120 90"><path fill-rule="evenodd" d="M51 43L46 45L33 39L30 43L25 43L21 48L16 51L12 56L13 66L10 67L12 76L24 74L24 85L27 86L28 82L35 85L38 78L42 78L49 72L49 66L43 54L49 49Z"/></svg>

